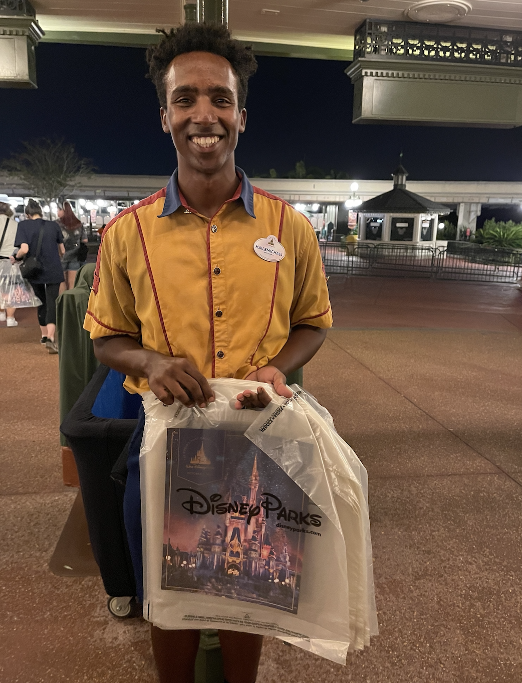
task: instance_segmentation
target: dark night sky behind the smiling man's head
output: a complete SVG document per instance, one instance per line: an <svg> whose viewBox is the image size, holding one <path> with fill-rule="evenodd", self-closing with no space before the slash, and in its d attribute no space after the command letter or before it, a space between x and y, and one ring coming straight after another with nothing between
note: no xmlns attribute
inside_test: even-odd
<svg viewBox="0 0 522 683"><path fill-rule="evenodd" d="M236 151L249 176L285 173L303 159L351 178L388 179L402 150L411 180L522 180L522 127L353 125L347 62L258 61ZM38 90L0 89L0 159L20 139L57 135L100 173L173 171L143 49L43 43L37 65Z"/></svg>

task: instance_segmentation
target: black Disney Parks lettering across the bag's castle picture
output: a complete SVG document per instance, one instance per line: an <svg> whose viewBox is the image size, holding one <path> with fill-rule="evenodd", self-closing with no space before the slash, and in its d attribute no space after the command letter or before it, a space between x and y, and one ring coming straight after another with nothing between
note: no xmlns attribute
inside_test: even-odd
<svg viewBox="0 0 522 683"><path fill-rule="evenodd" d="M227 502L222 501L222 495L220 493L213 493L209 498L207 498L201 491L197 491L195 488L178 488L179 491L190 492L190 497L188 501L183 501L182 507L190 514L240 514L248 515L246 523L250 524L253 517L257 517L261 514L261 507L265 510L266 518L270 518L270 512L276 513L276 518L278 520L284 519L286 522L295 522L295 524L310 525L313 527L321 526L321 515L310 514L307 512L304 514L302 510L287 510L287 508L282 504L280 499L273 493L264 492L261 496L264 499L261 500L261 507L259 505L249 505L248 503L238 503L237 501ZM195 496L195 497L194 497Z"/></svg>

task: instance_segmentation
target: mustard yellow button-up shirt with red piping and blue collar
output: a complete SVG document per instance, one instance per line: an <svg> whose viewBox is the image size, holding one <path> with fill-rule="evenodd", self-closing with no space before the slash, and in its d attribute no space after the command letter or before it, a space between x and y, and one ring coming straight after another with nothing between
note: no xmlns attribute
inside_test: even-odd
<svg viewBox="0 0 522 683"><path fill-rule="evenodd" d="M85 316L91 339L129 335L206 377L244 378L280 352L292 326L332 326L313 227L237 173L235 195L212 219L187 206L175 171L108 223ZM270 235L285 248L277 262L254 250ZM139 377L125 387L148 390Z"/></svg>

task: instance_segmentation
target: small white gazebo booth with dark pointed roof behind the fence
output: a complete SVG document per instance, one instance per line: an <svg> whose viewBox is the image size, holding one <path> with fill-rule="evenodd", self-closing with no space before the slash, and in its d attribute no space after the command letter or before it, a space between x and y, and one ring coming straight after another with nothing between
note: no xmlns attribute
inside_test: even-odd
<svg viewBox="0 0 522 683"><path fill-rule="evenodd" d="M450 208L407 190L407 175L400 164L393 173L393 189L359 206L359 242L437 246L439 216Z"/></svg>

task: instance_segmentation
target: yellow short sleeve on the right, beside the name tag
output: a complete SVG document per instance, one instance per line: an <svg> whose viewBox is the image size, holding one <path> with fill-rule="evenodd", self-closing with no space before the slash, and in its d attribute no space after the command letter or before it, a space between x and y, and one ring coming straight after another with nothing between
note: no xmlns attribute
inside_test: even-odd
<svg viewBox="0 0 522 683"><path fill-rule="evenodd" d="M311 225L307 225L307 232L308 240L295 262L290 326L302 324L328 329L332 326L328 285L317 237Z"/></svg>

